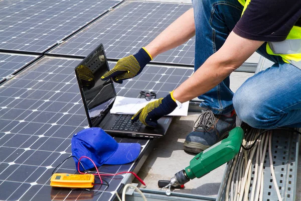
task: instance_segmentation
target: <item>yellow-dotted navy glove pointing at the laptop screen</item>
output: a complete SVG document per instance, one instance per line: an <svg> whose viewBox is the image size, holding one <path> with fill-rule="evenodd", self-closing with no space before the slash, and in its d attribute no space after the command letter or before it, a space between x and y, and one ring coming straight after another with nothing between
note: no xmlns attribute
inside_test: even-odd
<svg viewBox="0 0 301 201"><path fill-rule="evenodd" d="M152 59L152 56L142 47L136 54L119 59L115 67L105 73L101 79L112 78L114 82L121 84L122 80L137 76Z"/></svg>

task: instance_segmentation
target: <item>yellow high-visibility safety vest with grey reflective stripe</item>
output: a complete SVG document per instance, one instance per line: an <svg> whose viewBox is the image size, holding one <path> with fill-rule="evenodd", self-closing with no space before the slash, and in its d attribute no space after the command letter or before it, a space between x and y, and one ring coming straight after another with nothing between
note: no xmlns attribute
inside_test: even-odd
<svg viewBox="0 0 301 201"><path fill-rule="evenodd" d="M242 14L251 0L238 0L244 6ZM290 63L301 69L301 27L293 26L284 41L267 42L266 52L281 56L285 63Z"/></svg>

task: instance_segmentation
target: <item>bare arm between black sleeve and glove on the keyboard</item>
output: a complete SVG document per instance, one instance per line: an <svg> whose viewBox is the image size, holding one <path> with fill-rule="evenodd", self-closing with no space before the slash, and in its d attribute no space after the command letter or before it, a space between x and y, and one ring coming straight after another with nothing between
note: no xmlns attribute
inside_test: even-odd
<svg viewBox="0 0 301 201"><path fill-rule="evenodd" d="M224 45L175 89L174 98L184 103L211 90L241 66L263 43L242 38L231 32Z"/></svg>

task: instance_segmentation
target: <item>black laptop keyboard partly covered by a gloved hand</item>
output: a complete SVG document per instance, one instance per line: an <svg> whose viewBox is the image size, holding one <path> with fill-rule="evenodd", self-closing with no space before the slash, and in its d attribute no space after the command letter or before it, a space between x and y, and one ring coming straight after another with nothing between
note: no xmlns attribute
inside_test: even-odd
<svg viewBox="0 0 301 201"><path fill-rule="evenodd" d="M132 123L130 118L132 118L132 115L119 115L110 129L121 131L139 131L142 123L139 120Z"/></svg>

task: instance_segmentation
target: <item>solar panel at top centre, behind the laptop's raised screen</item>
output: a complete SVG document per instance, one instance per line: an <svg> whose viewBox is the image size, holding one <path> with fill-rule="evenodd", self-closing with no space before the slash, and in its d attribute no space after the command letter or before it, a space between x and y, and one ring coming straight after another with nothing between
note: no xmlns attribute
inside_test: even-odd
<svg viewBox="0 0 301 201"><path fill-rule="evenodd" d="M192 6L127 1L49 52L87 56L100 43L108 58L136 53ZM157 56L155 62L194 64L193 37L184 45Z"/></svg>

